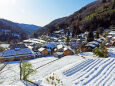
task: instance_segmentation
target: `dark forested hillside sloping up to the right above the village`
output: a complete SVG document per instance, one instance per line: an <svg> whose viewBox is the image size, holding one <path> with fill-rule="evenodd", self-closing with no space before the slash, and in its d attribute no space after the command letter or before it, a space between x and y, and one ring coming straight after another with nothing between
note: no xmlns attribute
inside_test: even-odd
<svg viewBox="0 0 115 86"><path fill-rule="evenodd" d="M100 27L109 28L115 25L115 0L94 1L72 15L57 20L43 27L43 31L36 30L34 33L42 35L47 34L47 31L52 32L70 27L71 32L78 34L78 30L80 30L80 32L85 32L86 30L97 30Z"/></svg>

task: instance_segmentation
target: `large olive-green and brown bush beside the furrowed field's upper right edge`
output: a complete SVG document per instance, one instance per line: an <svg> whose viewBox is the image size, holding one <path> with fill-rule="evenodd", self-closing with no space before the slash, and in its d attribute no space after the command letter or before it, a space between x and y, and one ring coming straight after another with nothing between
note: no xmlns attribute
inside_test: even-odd
<svg viewBox="0 0 115 86"><path fill-rule="evenodd" d="M108 51L107 51L107 48L104 47L104 44L101 44L99 47L95 48L93 50L93 53L96 55L96 56L99 56L99 57L103 57L103 58L107 58L109 55L108 55Z"/></svg>

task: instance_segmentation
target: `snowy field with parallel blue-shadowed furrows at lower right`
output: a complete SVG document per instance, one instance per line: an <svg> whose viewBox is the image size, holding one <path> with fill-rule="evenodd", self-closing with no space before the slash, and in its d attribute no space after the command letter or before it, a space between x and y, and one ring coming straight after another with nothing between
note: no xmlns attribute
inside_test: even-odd
<svg viewBox="0 0 115 86"><path fill-rule="evenodd" d="M75 86L115 86L115 59L87 59L63 74Z"/></svg>

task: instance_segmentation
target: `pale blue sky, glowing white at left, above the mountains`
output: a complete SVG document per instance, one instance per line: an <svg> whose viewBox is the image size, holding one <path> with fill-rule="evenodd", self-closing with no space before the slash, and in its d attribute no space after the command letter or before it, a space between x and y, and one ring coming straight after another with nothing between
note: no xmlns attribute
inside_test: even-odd
<svg viewBox="0 0 115 86"><path fill-rule="evenodd" d="M95 0L0 0L0 18L45 26Z"/></svg>

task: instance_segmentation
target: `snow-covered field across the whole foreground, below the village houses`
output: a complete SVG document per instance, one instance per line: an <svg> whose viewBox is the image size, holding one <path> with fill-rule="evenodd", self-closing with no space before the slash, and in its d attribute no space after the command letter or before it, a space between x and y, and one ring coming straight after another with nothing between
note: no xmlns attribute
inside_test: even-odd
<svg viewBox="0 0 115 86"><path fill-rule="evenodd" d="M108 50L111 57L115 57L113 51L115 49ZM36 83L40 82L43 86L54 86L46 81L49 76L54 74L63 83L57 86L115 86L115 58L111 57L97 58L91 52L87 52L65 56L58 60L54 57L29 60L33 68L40 67L29 79ZM19 80L19 75L19 63L9 63L0 71L0 85L25 86Z"/></svg>

